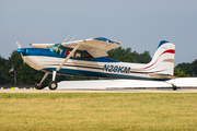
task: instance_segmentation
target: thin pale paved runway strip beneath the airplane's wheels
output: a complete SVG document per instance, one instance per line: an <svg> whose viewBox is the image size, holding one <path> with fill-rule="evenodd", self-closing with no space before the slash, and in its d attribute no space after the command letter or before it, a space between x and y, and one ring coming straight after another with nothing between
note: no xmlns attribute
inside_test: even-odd
<svg viewBox="0 0 197 131"><path fill-rule="evenodd" d="M0 90L0 93L197 93L197 88L181 90Z"/></svg>

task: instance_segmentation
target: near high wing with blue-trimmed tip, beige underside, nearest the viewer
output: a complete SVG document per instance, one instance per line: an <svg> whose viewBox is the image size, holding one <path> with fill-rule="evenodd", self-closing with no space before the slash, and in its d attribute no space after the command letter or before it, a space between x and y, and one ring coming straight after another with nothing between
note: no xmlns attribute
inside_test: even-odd
<svg viewBox="0 0 197 131"><path fill-rule="evenodd" d="M119 46L120 43L104 37L97 37L62 43L61 45L69 48L74 48L77 45L79 45L79 50L86 50L92 57L96 58L107 56L106 50L108 51Z"/></svg>

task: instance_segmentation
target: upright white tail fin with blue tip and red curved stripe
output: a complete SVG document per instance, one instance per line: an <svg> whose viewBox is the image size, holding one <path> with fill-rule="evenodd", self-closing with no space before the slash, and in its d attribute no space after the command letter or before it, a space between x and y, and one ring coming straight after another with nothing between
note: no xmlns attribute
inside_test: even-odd
<svg viewBox="0 0 197 131"><path fill-rule="evenodd" d="M143 69L157 74L174 75L174 55L175 45L161 40L151 62Z"/></svg>

